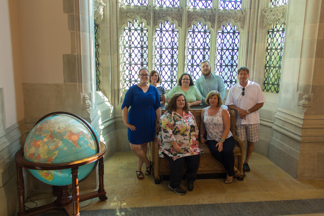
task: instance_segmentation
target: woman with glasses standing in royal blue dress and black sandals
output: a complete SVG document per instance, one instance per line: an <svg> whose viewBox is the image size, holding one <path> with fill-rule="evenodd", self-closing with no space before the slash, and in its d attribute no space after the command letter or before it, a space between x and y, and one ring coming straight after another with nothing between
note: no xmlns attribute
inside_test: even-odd
<svg viewBox="0 0 324 216"><path fill-rule="evenodd" d="M155 86L147 84L148 70L141 68L138 76L140 82L131 86L125 94L121 106L122 119L128 127L128 140L132 151L138 157L136 175L143 179L142 165L145 163L145 175L152 172L153 163L146 156L147 143L154 140L155 130L159 129L161 105L159 93ZM129 110L128 108L131 107ZM155 117L158 122L155 125Z"/></svg>

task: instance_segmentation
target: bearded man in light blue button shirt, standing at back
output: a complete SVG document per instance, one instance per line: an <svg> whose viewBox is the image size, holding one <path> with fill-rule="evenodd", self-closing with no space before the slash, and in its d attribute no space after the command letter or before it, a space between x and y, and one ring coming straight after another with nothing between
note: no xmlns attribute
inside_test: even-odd
<svg viewBox="0 0 324 216"><path fill-rule="evenodd" d="M223 100L225 97L225 84L223 78L220 75L211 73L211 67L208 61L200 63L200 69L203 75L196 80L195 86L202 94L202 103L207 104L206 97L209 92L214 90L219 92Z"/></svg>

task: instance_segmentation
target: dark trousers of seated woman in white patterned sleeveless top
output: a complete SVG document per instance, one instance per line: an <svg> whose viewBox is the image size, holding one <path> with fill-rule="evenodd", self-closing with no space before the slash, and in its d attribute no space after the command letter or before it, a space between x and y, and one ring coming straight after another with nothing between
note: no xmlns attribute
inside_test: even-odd
<svg viewBox="0 0 324 216"><path fill-rule="evenodd" d="M225 140L223 144L223 151L221 152L218 151L218 146L216 147L217 142L219 141L208 140L206 144L208 145L213 157L223 164L227 170L228 176L234 176L234 137L231 136Z"/></svg>

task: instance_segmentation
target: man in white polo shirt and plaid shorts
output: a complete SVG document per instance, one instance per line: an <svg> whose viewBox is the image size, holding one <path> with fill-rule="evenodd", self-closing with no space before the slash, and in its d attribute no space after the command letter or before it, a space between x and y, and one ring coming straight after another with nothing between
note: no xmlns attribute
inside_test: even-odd
<svg viewBox="0 0 324 216"><path fill-rule="evenodd" d="M239 83L233 85L228 92L226 102L228 108L236 111L236 135L248 142L243 170L250 171L249 158L253 151L254 142L259 140L260 118L259 111L265 102L259 84L249 80L249 69L240 67L237 71Z"/></svg>

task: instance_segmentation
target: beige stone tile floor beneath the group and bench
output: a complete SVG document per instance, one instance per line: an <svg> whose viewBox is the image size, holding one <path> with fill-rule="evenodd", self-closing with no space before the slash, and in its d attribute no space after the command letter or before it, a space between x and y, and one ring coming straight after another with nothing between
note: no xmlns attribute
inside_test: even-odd
<svg viewBox="0 0 324 216"><path fill-rule="evenodd" d="M90 205L90 200L81 202L80 207L86 207L80 210L324 198L324 179L297 181L257 153L251 155L251 171L246 173L244 181L234 179L227 185L224 179L198 179L194 191L188 191L181 199L168 189L168 181L156 185L152 175L137 179L136 163L133 152L117 152L108 158L104 175L108 200L101 202L96 198ZM145 164L142 170L145 171ZM182 182L183 188L185 183ZM89 191L80 191L81 194L86 192ZM40 194L33 200L42 205L43 200L49 203L54 198ZM26 206L32 203L27 202Z"/></svg>

